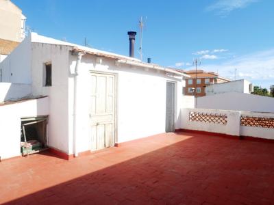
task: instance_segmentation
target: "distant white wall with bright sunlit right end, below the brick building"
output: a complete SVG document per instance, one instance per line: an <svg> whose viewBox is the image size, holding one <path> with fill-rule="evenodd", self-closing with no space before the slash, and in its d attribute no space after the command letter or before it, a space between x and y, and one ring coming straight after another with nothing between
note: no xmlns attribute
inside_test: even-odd
<svg viewBox="0 0 274 205"><path fill-rule="evenodd" d="M238 81L230 81L226 83L217 83L217 84L207 85L206 96L223 94L227 92L240 92L240 93L250 94L249 84L250 84L249 81L242 79Z"/></svg>

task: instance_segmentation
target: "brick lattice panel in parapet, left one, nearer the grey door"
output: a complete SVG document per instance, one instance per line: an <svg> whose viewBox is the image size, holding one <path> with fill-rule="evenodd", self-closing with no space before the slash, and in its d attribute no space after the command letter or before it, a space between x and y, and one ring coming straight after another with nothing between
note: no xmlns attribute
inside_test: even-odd
<svg viewBox="0 0 274 205"><path fill-rule="evenodd" d="M189 121L208 122L214 124L227 124L227 115L189 112Z"/></svg>

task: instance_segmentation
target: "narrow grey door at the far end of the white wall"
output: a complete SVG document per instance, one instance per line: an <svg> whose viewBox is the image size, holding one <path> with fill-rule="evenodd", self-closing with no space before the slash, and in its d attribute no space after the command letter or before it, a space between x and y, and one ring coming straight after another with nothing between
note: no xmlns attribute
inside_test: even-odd
<svg viewBox="0 0 274 205"><path fill-rule="evenodd" d="M175 83L166 82L166 133L175 131Z"/></svg>

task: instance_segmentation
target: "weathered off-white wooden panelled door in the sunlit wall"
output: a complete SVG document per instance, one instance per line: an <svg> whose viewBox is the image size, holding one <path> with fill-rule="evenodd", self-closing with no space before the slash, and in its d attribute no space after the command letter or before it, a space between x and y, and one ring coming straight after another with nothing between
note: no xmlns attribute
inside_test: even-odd
<svg viewBox="0 0 274 205"><path fill-rule="evenodd" d="M91 148L114 146L115 75L91 73Z"/></svg>

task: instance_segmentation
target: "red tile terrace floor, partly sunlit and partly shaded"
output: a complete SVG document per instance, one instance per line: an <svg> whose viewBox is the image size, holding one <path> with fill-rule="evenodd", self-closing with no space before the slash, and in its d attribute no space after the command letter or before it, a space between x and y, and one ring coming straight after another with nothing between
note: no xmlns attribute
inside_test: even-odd
<svg viewBox="0 0 274 205"><path fill-rule="evenodd" d="M0 204L274 204L274 143L167 133L0 163Z"/></svg>

